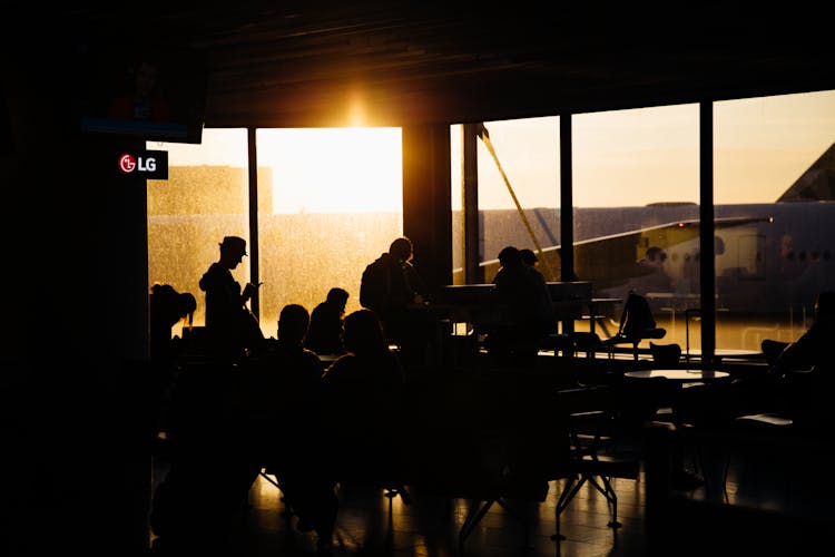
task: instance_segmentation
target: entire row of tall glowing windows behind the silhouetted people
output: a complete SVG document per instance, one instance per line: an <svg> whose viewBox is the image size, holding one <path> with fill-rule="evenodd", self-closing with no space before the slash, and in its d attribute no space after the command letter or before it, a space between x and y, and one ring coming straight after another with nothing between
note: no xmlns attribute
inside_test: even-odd
<svg viewBox="0 0 835 557"><path fill-rule="evenodd" d="M596 297L647 295L668 330L664 342L699 346L699 136L710 133L699 128L699 106L571 118L577 278L591 281ZM716 102L714 123L716 346L793 340L811 323L816 293L835 289L835 91ZM488 282L505 245L538 251L542 272L560 280L559 124L485 123L475 140ZM461 129L451 127L456 270ZM203 324L197 282L223 236L239 235L257 245L258 261L245 257L233 273L264 283L265 334L275 334L284 304L312 310L333 286L351 293L347 311L357 309L362 270L403 229L400 128L261 129L256 143L257 201L246 130L206 129L200 145L149 144L169 150L170 166L168 180L148 184L150 283L194 293ZM610 311L617 317L620 307Z"/></svg>

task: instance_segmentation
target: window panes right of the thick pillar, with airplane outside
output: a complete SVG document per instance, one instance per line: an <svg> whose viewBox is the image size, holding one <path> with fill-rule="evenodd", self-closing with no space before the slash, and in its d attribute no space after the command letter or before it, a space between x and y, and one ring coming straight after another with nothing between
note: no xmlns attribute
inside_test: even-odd
<svg viewBox="0 0 835 557"><path fill-rule="evenodd" d="M827 150L835 91L716 102L713 130L700 128L699 110L571 117L577 278L590 281L596 297L646 295L667 329L662 342L700 348L700 135L713 134L716 348L794 340L811 323L817 292L835 289L835 148ZM558 125L556 117L487 123L492 145L477 143L488 281L504 245L547 254L560 244ZM453 144L453 188L460 152ZM610 306L611 317L621 310ZM617 328L608 325L603 334Z"/></svg>

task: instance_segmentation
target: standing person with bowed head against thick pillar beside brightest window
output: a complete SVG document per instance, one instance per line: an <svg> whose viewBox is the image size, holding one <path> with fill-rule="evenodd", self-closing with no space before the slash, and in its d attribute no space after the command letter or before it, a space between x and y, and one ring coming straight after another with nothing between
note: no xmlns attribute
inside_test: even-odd
<svg viewBox="0 0 835 557"><path fill-rule="evenodd" d="M407 237L394 240L389 252L365 267L360 283L360 303L377 314L386 338L400 344L407 362L420 360L432 338L426 313L410 311L429 297L429 289L412 264L413 255Z"/></svg>

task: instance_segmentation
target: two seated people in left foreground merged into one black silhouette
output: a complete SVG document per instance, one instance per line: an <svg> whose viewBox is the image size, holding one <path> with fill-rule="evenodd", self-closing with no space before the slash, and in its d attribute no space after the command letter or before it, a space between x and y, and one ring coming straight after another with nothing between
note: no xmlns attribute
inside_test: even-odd
<svg viewBox="0 0 835 557"><path fill-rule="evenodd" d="M297 528L327 550L337 483L393 475L396 431L379 414L401 404L405 373L380 319L367 309L345 316L342 353L328 365L305 348L310 325L303 305L287 304L277 338L245 362L181 370L167 423L170 467L154 499L158 544L191 547L223 529L266 470Z"/></svg>

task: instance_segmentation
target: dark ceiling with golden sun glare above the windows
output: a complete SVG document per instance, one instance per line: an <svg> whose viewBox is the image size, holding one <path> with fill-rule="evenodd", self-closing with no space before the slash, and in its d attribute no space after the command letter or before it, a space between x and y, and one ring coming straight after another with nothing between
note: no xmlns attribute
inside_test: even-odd
<svg viewBox="0 0 835 557"><path fill-rule="evenodd" d="M805 2L63 3L32 41L188 46L207 127L465 123L835 88L832 30ZM752 4L754 6L754 4ZM45 31L46 30L46 31ZM60 39L58 39L60 38Z"/></svg>

